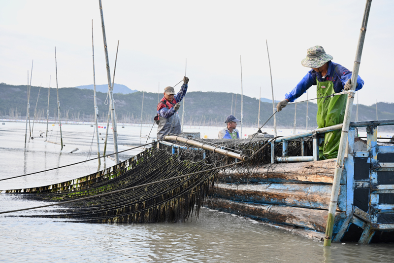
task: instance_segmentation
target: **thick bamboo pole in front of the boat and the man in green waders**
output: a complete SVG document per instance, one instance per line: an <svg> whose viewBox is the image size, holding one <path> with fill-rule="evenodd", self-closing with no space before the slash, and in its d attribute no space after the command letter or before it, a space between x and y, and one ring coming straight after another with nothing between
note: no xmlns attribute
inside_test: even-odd
<svg viewBox="0 0 394 263"><path fill-rule="evenodd" d="M371 8L371 2L372 2L372 0L367 0L365 3L365 10L364 10L363 18L362 18L362 23L361 23L361 30L360 30L359 42L357 45L356 58L355 58L355 62L353 65L353 74L352 74L352 80L351 80L352 84L353 84L352 89L351 89L352 91L356 90L357 77L359 75L359 69L360 69L360 63L361 63L362 47L364 45L364 38L365 38L366 26L368 23L369 10ZM346 102L345 118L343 120L341 140L339 142L338 157L336 159L334 180L332 182L332 190L331 190L331 197L330 197L330 202L329 202L329 207L328 207L328 218L327 218L326 236L324 239L324 246L331 245L332 230L333 230L334 220L335 220L335 210L336 210L336 204L338 202L338 193L339 193L339 187L340 187L342 170L343 170L343 159L344 159L345 151L346 151L346 143L347 143L347 138L348 138L348 133L349 133L349 123L350 123L350 117L352 114L353 101L354 101L354 93L349 93L348 100Z"/></svg>

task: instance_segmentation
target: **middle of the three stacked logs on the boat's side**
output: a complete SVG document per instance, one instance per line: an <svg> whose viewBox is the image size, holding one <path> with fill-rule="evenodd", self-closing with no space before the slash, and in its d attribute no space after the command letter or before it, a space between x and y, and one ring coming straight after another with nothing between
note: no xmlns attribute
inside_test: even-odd
<svg viewBox="0 0 394 263"><path fill-rule="evenodd" d="M337 211L346 210L346 186L341 186ZM214 196L230 200L281 204L328 210L330 185L312 184L218 184Z"/></svg>

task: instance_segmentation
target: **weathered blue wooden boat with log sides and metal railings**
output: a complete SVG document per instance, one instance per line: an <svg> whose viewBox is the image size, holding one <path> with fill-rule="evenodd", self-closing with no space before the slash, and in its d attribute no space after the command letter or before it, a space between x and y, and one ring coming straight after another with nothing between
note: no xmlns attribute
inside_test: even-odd
<svg viewBox="0 0 394 263"><path fill-rule="evenodd" d="M394 144L377 142L377 126L393 124L351 122L332 241L394 242ZM336 159L319 160L318 144L341 125L277 138L270 164L222 170L206 206L323 240ZM358 127L366 127L366 140ZM312 156L304 149L288 156L289 142L310 136ZM275 156L275 144L282 144L282 156Z"/></svg>

